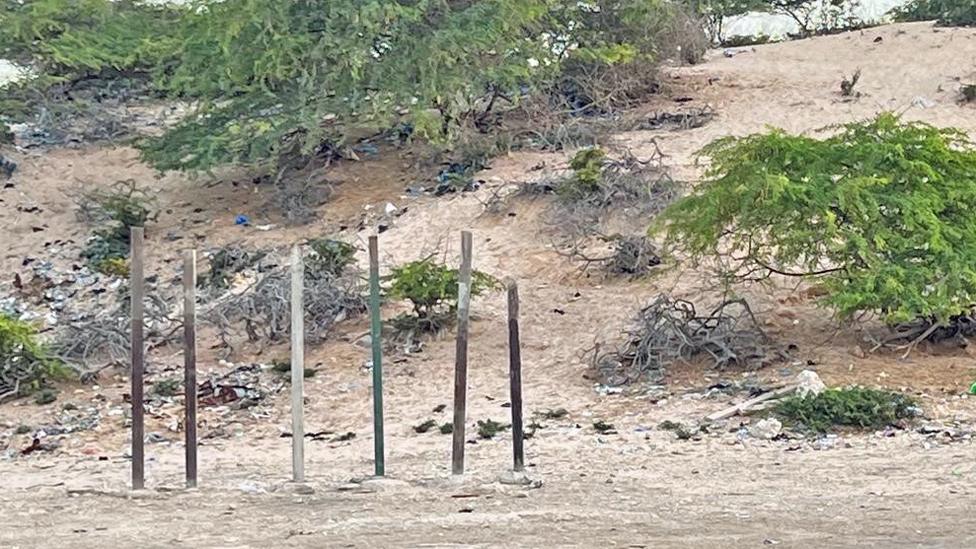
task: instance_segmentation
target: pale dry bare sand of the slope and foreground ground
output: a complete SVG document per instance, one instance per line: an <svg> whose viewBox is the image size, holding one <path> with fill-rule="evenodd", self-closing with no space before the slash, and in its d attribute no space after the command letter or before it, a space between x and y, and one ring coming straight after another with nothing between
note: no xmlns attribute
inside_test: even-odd
<svg viewBox="0 0 976 549"><path fill-rule="evenodd" d="M880 41L876 38L880 37ZM698 171L693 152L711 139L775 125L810 131L888 109L939 125L976 132L976 109L956 104L959 79L976 77L976 30L933 29L927 24L887 26L801 42L747 49L733 57L715 52L706 64L669 69L673 96L689 96L718 112L711 124L683 132L631 132L615 139L638 156L652 140L683 178ZM844 75L862 70L862 97L845 102L837 93ZM673 109L661 98L649 111ZM409 183L390 165L344 165L330 177L342 183L312 227L243 233L235 213L261 218L264 197L247 186L201 187L177 176L155 179L130 150L88 148L28 153L18 158L17 187L0 194L5 227L4 272L21 269L25 255L44 242L83 238L64 182L83 184L137 178L155 187L164 215L155 231L155 266L175 257L178 244L158 235L202 233L208 244L243 239L285 244L316 230L355 221L366 203L408 206L382 235L384 266L415 259L437 247L456 252L458 231L475 233L475 267L514 276L523 292L526 413L566 408L547 420L527 443L537 488L499 484L509 462L506 437L468 446L469 474L449 479L449 437L418 435L411 426L451 395L453 342L431 342L424 353L388 366L388 471L395 480L347 485L371 469L369 378L366 351L347 342L307 352L320 373L309 380L307 430L353 431L348 442L309 442L306 470L314 493L296 493L289 475L288 407L282 396L269 418L244 418L229 437L201 447L202 487L184 492L179 443L147 447L150 490L125 492L125 430L118 418L79 433L53 454L0 461L2 547L973 547L976 519L974 447L969 439L945 443L915 432L885 437L844 435L816 444L740 439L730 422L697 441L677 441L654 427L664 419L694 420L728 404L703 398L701 387L736 373L675 368L669 398L601 395L584 379L580 354L612 338L633 311L659 288L654 281L624 283L578 275L552 251L544 205L518 202L500 215L481 215L488 191L447 198L402 201ZM493 185L524 180L540 161L558 155L519 154L499 159L484 174ZM374 172L357 175L357 170ZM357 178L362 184L356 183ZM38 219L21 203L45 207ZM203 207L205 211L195 212ZM506 215L512 213L515 215ZM353 224L353 226L355 226ZM356 235L365 238L367 232ZM454 254L448 254L453 261ZM675 287L695 297L695 277ZM659 282L664 284L664 282ZM673 281L668 281L670 287ZM815 364L828 384L858 381L914 387L927 415L972 426L976 406L960 398L976 379L973 359L962 350L894 356L854 356L855 335L836 334L826 315L802 299L756 297L779 337L795 342L798 360ZM556 312L556 310L561 313ZM503 296L476 300L472 327L469 418L504 420L508 408ZM356 327L354 327L356 328ZM351 330L355 332L355 329ZM207 345L201 344L201 348ZM203 351L204 369L217 368ZM179 357L155 356L155 367ZM788 365L786 365L788 366ZM770 368L777 380L796 368ZM692 390L689 392L691 388ZM87 403L96 392L120 399L124 379L105 379L97 391L65 388L65 400ZM58 406L55 404L52 406ZM0 409L3 428L43 422L52 407L33 404ZM618 434L591 427L605 419ZM216 418L214 418L216 421ZM165 431L150 418L147 430ZM155 422L155 423L154 423ZM733 431L733 432L727 432ZM166 436L179 440L176 433ZM27 441L14 436L12 448ZM99 460L104 456L105 460ZM170 487L171 490L156 490Z"/></svg>

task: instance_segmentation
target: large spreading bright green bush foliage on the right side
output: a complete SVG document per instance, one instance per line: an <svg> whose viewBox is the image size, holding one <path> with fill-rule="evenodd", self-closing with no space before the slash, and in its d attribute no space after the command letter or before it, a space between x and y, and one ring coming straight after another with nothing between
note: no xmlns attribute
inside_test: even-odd
<svg viewBox="0 0 976 549"><path fill-rule="evenodd" d="M727 137L695 192L652 231L729 283L815 278L845 318L945 322L976 303L976 146L892 114L825 139L781 130Z"/></svg>

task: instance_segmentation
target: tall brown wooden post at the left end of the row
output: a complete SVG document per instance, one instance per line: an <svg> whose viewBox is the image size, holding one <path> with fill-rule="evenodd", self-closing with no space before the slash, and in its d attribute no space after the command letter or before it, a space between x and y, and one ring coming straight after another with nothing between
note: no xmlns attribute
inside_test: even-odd
<svg viewBox="0 0 976 549"><path fill-rule="evenodd" d="M144 234L142 227L129 231L132 264L129 267L129 298L132 317L131 379L132 379L132 489L146 486L146 459L144 440L145 419L143 410L143 375L145 372L143 351L143 297L145 278L143 266Z"/></svg>

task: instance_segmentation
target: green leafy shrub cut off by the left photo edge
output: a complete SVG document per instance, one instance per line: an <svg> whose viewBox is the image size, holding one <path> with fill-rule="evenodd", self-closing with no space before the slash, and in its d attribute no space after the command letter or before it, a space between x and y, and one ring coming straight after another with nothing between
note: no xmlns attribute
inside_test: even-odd
<svg viewBox="0 0 976 549"><path fill-rule="evenodd" d="M17 387L29 394L64 379L68 369L51 356L28 322L0 314L0 389Z"/></svg>

